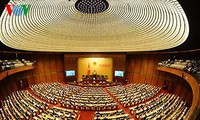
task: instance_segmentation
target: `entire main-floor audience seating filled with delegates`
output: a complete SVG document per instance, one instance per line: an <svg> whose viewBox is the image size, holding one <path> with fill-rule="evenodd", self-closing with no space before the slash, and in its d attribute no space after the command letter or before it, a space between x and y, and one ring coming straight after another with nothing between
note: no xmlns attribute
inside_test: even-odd
<svg viewBox="0 0 200 120"><path fill-rule="evenodd" d="M13 92L1 101L0 120L79 120L83 111L91 115L88 118L84 116L88 120L187 119L189 107L186 102L179 96L160 90L160 87L148 84L102 88L42 83L32 85L28 90ZM123 106L118 106L116 101Z"/></svg>

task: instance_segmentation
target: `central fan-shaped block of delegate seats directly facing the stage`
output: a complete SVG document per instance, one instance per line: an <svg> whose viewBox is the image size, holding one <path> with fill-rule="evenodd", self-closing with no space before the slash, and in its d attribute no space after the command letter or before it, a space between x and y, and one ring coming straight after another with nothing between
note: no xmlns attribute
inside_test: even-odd
<svg viewBox="0 0 200 120"><path fill-rule="evenodd" d="M113 110L118 108L118 104L108 96L102 87L84 87L79 93L66 97L61 105L80 110Z"/></svg>

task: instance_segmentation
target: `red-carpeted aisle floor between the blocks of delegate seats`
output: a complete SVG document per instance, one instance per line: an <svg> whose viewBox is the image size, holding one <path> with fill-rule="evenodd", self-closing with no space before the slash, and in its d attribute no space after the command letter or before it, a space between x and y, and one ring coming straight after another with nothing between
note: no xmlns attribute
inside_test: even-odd
<svg viewBox="0 0 200 120"><path fill-rule="evenodd" d="M31 90L30 88L26 88L26 90L28 90L32 95L34 95L36 98L42 100L40 97L38 97L37 95L35 95ZM118 109L123 109L125 111L126 114L129 114L130 118L132 120L137 120L132 114L130 114L130 110L129 108L130 107L123 107L105 88L103 88L103 90L115 101L118 103ZM155 97L159 96L161 93L169 93L168 91L166 90L161 90L157 95L155 95L153 98L151 99L154 99ZM149 99L149 100L151 100ZM149 101L148 100L148 101ZM44 101L44 100L42 100ZM45 101L46 102L46 101ZM48 103L48 102L47 102ZM61 107L61 104L58 103L56 105L54 104L51 104L51 103L48 103L50 104L50 108L52 108L53 106L56 106L56 107ZM61 107L61 108L64 108L64 107ZM95 111L83 111L83 110L78 110L79 111L79 120L93 120L93 117L94 117L94 112Z"/></svg>

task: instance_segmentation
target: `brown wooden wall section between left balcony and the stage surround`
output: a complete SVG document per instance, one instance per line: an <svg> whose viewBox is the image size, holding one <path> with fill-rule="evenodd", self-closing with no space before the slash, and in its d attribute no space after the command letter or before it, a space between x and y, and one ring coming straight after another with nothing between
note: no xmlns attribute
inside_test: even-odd
<svg viewBox="0 0 200 120"><path fill-rule="evenodd" d="M23 57L36 61L35 69L27 75L29 84L64 82L63 54L28 54Z"/></svg>

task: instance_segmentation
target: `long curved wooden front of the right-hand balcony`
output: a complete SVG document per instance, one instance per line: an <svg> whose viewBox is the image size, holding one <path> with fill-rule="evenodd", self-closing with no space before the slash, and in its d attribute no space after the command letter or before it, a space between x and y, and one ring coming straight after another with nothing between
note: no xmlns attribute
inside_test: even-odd
<svg viewBox="0 0 200 120"><path fill-rule="evenodd" d="M189 112L188 117L189 117L189 120L195 119L200 111L200 86L199 86L198 80L195 79L189 73L178 70L178 69L158 66L157 70L168 72L168 73L177 75L179 77L182 77L184 80L186 80L189 83L190 87L192 88L193 100L192 100L192 105L190 107L190 112Z"/></svg>

